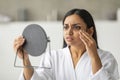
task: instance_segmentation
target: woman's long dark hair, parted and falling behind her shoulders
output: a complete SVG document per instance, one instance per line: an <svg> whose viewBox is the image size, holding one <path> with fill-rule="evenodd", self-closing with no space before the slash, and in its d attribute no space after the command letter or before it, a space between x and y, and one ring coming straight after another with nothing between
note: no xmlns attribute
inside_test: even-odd
<svg viewBox="0 0 120 80"><path fill-rule="evenodd" d="M87 10L85 10L85 9L72 9L72 10L68 11L63 18L63 25L64 25L64 21L65 21L66 17L73 15L73 14L77 14L80 18L82 18L83 21L86 23L88 29L93 27L94 33L93 33L92 37L96 41L97 48L99 48L98 42L97 42L97 32L96 32L96 28L95 28L95 23L94 23L92 15ZM64 41L63 47L66 47L67 44L66 44L65 40L63 40L63 41Z"/></svg>

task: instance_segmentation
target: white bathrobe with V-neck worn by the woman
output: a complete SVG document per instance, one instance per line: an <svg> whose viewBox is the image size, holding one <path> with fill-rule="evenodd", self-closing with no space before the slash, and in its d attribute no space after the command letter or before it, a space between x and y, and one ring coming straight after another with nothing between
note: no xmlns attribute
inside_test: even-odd
<svg viewBox="0 0 120 80"><path fill-rule="evenodd" d="M98 54L103 67L92 74L92 65L88 53L85 52L74 68L68 47L46 53L40 62L40 67L34 71L31 80L118 80L118 64L114 56L101 49ZM23 73L19 80L24 80Z"/></svg>

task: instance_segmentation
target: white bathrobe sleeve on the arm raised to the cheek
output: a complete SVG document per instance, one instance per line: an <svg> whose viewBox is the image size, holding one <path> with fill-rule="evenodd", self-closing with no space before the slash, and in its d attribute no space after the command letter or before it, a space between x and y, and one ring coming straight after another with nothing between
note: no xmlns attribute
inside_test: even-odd
<svg viewBox="0 0 120 80"><path fill-rule="evenodd" d="M100 55L103 67L94 75L91 73L89 80L119 80L118 64L112 54Z"/></svg>

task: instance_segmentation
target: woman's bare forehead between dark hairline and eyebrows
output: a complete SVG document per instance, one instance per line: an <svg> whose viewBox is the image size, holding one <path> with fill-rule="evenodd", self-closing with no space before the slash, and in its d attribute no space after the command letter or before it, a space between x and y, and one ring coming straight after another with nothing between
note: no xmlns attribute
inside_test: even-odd
<svg viewBox="0 0 120 80"><path fill-rule="evenodd" d="M78 16L77 14L67 16L64 21L64 24L77 24L77 23L86 25L85 22L83 21L83 19L80 16Z"/></svg>

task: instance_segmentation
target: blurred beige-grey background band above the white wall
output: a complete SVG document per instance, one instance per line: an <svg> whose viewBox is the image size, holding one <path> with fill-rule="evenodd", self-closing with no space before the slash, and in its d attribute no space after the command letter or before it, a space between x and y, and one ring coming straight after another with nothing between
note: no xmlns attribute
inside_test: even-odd
<svg viewBox="0 0 120 80"><path fill-rule="evenodd" d="M116 20L119 0L0 0L0 14L13 21L61 20L71 8L85 8L97 20Z"/></svg>

